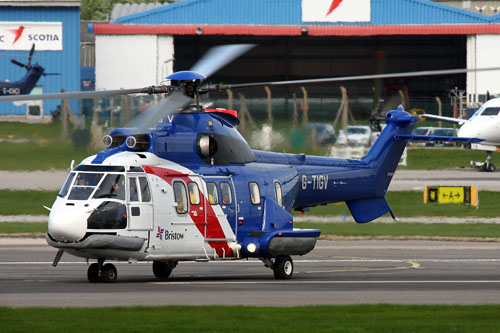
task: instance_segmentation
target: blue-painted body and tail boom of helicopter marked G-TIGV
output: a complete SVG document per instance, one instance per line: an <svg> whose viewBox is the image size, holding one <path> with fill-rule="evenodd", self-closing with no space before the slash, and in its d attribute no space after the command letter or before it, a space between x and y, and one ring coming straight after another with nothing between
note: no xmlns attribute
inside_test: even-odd
<svg viewBox="0 0 500 333"><path fill-rule="evenodd" d="M147 133L148 144L139 150L125 144L125 138L137 136L131 130L114 130L110 135L122 137L123 143L102 151L92 163L100 164L118 152L147 151L204 179L219 177L220 181L220 177L231 177L237 208L226 208L225 212L230 219L238 218L231 214L245 217L238 226L238 239L242 240L263 228L291 230L290 212L306 211L311 206L345 201L357 222L368 222L390 212L384 196L407 143L396 135L410 134L416 121L404 111L389 112L388 125L368 154L350 160L252 150L236 130L237 119L231 115L179 113ZM140 140L140 135L137 137ZM200 148L203 137L213 146L205 154ZM257 209L261 206L252 204L250 182L259 185L264 207ZM279 205L276 183L283 197Z"/></svg>

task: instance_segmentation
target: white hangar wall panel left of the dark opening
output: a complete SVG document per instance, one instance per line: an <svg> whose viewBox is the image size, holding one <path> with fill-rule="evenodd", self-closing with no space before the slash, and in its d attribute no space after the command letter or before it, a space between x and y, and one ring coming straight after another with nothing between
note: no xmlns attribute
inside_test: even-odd
<svg viewBox="0 0 500 333"><path fill-rule="evenodd" d="M97 35L95 43L96 90L146 87L173 72L172 36Z"/></svg>

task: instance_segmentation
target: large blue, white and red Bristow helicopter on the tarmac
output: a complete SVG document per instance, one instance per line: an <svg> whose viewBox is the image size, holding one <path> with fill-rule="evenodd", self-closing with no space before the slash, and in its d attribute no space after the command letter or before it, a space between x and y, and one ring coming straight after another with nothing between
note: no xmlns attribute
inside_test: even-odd
<svg viewBox="0 0 500 333"><path fill-rule="evenodd" d="M358 223L386 213L396 218L385 194L409 140L481 141L412 135L418 118L400 107L385 114L387 126L359 160L253 150L236 128L237 112L204 109L201 95L360 77L204 83L252 47L211 49L191 70L169 75L169 85L0 97L166 95L106 135L105 150L72 164L50 208L46 241L58 249L54 267L64 252L91 260L87 278L94 283L117 280L115 265L106 263L111 260L152 262L154 276L166 279L179 261L258 258L276 279L287 280L294 271L292 256L312 251L321 233L294 228L293 210L345 201Z"/></svg>

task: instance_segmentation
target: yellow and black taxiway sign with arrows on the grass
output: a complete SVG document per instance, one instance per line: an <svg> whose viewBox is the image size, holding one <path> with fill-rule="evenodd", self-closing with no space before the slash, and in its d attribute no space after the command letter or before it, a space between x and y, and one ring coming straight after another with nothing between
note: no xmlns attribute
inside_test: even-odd
<svg viewBox="0 0 500 333"><path fill-rule="evenodd" d="M473 207L479 205L477 188L474 186L426 186L424 203L428 202L463 203Z"/></svg>

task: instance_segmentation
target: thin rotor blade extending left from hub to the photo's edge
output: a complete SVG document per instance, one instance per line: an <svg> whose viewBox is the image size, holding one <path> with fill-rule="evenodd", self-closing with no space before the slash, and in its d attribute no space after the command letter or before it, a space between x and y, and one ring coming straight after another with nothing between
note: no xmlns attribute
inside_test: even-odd
<svg viewBox="0 0 500 333"><path fill-rule="evenodd" d="M117 90L102 90L102 91L75 91L65 93L51 93L43 95L6 95L0 96L0 102L14 102L14 101L35 101L46 99L79 99L79 98L101 98L111 97L128 94L148 94L148 88L135 88L135 89L117 89Z"/></svg>

